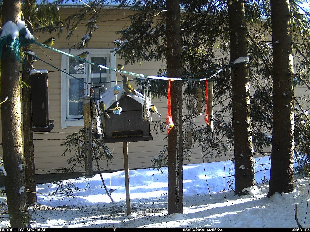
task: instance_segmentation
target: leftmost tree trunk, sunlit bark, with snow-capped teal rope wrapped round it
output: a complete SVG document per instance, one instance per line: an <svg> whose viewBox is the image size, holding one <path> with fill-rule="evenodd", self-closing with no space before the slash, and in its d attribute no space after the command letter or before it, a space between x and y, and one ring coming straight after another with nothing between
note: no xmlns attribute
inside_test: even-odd
<svg viewBox="0 0 310 232"><path fill-rule="evenodd" d="M2 1L2 26L9 20L20 19L21 0ZM19 61L12 58L4 45L1 56L1 105L3 164L7 172L6 194L11 227L29 227L24 179L24 156L21 133L20 75Z"/></svg>

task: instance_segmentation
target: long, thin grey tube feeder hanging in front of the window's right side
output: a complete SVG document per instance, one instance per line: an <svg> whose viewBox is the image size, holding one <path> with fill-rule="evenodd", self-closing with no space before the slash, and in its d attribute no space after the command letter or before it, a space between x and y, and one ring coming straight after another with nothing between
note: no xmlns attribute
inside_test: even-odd
<svg viewBox="0 0 310 232"><path fill-rule="evenodd" d="M84 153L85 153L85 177L93 177L93 155L91 135L91 97L84 96Z"/></svg>

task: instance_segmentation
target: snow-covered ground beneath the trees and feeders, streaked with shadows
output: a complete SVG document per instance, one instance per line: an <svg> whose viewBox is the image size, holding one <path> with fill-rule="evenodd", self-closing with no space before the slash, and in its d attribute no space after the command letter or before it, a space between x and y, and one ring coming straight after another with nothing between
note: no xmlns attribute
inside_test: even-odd
<svg viewBox="0 0 310 232"><path fill-rule="evenodd" d="M103 174L111 193L111 202L100 175L77 178L75 198L51 195L56 184L39 184L38 204L29 207L32 227L293 227L297 228L294 205L298 203L301 225L310 226L307 214L310 178L295 176L291 193L267 198L270 161L256 158L257 185L250 195L234 196L231 161L184 165L184 213L168 215L168 169L130 171L131 214L127 216L124 172ZM263 170L265 171L259 171ZM267 170L266 170L267 169ZM226 177L226 178L224 178ZM259 183L259 184L258 184ZM232 184L233 186L233 184ZM210 190L210 191L209 191ZM7 227L8 222L2 222Z"/></svg>

